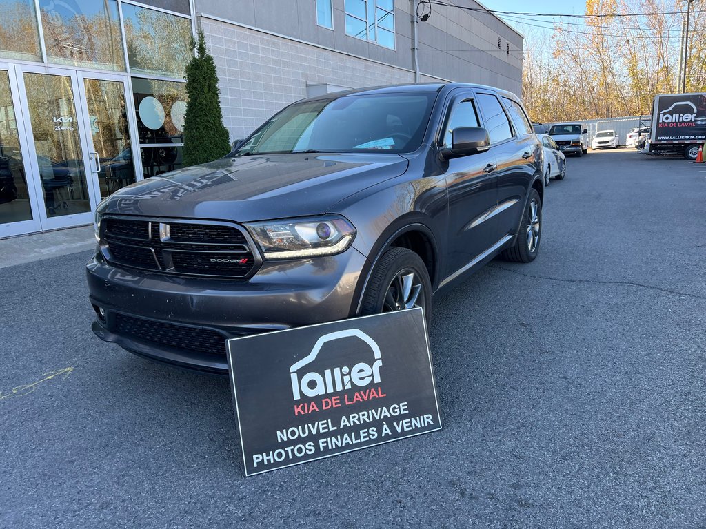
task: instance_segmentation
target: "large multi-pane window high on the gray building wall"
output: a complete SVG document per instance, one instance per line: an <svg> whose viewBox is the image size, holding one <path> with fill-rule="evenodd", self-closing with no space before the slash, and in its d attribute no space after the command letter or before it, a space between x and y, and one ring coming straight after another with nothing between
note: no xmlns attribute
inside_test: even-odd
<svg viewBox="0 0 706 529"><path fill-rule="evenodd" d="M346 34L395 48L395 0L345 0Z"/></svg>

